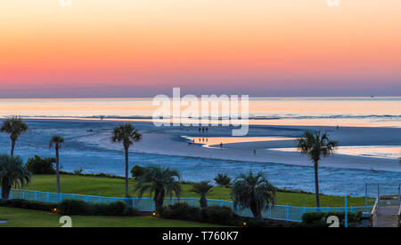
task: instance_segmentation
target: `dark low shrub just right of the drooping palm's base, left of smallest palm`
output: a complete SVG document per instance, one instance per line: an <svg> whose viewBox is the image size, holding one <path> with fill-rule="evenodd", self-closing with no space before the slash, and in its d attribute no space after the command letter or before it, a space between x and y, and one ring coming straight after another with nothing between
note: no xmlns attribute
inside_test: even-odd
<svg viewBox="0 0 401 245"><path fill-rule="evenodd" d="M201 209L186 203L176 203L160 210L161 217L189 221L199 221L200 213Z"/></svg>

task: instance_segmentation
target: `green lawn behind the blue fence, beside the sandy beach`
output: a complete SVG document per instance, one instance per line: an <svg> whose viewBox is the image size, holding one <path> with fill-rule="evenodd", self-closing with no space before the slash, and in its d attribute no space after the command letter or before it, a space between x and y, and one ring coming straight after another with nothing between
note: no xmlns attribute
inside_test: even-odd
<svg viewBox="0 0 401 245"><path fill-rule="evenodd" d="M57 192L55 179L55 176L49 175L34 176L32 183L29 186L25 186L24 189L55 193ZM137 194L133 193L134 186L135 180L130 180L130 190L132 192L132 196L136 197ZM182 197L198 198L197 194L190 192L192 185L182 186L184 189L184 194ZM229 188L213 187L213 191L208 194L208 199L230 201L230 191L231 190ZM124 197L124 179L61 175L61 192L65 194ZM144 197L148 196L149 194L145 194ZM364 206L364 202L364 197L348 198L349 206ZM315 207L315 195L279 192L276 196L276 204L299 207ZM344 197L322 195L321 205L323 207L344 206Z"/></svg>

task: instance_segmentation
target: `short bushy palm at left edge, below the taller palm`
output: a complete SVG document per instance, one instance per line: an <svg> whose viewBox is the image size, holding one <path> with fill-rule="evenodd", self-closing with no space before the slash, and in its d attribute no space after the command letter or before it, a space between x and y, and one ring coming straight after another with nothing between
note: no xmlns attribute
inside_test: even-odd
<svg viewBox="0 0 401 245"><path fill-rule="evenodd" d="M2 201L8 200L12 186L28 185L31 173L22 163L19 155L0 155L0 181L2 186Z"/></svg>

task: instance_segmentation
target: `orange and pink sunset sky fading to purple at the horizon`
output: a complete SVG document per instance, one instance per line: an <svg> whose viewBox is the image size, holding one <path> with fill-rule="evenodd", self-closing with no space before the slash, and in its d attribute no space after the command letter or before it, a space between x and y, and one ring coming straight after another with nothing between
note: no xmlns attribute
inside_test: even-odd
<svg viewBox="0 0 401 245"><path fill-rule="evenodd" d="M401 1L0 0L0 98L401 96Z"/></svg>

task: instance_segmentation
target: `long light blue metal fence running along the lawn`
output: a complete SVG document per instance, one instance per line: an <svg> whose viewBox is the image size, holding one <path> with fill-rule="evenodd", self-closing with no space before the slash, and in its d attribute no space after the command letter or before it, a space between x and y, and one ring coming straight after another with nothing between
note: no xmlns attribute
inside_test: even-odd
<svg viewBox="0 0 401 245"><path fill-rule="evenodd" d="M84 202L93 203L111 203L111 202L126 202L128 205L137 209L138 211L153 211L154 202L151 198L121 198L121 197L104 197L83 194L56 194L38 191L27 190L12 190L10 199L23 199L37 202L51 202L58 203L63 200L81 200ZM173 205L175 203L187 203L193 207L200 207L200 199L198 198L168 198L164 201L165 205ZM225 200L208 200L209 206L222 206L233 209L235 213L242 217L253 217L250 209L239 209L234 207L232 201ZM357 212L370 212L372 207L323 207L323 208L310 208L310 207L294 207L283 205L269 205L262 211L262 215L268 219L301 222L302 216L305 213L343 213L347 209L348 213Z"/></svg>

